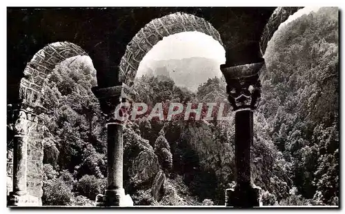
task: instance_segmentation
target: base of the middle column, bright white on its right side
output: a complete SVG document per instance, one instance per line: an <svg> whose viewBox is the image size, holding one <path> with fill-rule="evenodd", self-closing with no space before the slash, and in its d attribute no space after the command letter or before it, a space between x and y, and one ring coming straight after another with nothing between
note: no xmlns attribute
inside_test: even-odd
<svg viewBox="0 0 345 214"><path fill-rule="evenodd" d="M106 190L106 195L96 196L96 206L133 206L130 195L125 194L124 188Z"/></svg>

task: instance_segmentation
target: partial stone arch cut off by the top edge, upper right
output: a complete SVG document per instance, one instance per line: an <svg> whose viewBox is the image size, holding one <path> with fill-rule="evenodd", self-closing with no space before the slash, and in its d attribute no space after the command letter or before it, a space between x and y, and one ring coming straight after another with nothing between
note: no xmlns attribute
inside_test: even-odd
<svg viewBox="0 0 345 214"><path fill-rule="evenodd" d="M270 16L270 19L268 19L268 22L266 23L264 32L262 32L262 37L260 40L260 51L263 56L265 55L268 41L272 39L273 35L275 34L275 31L278 30L280 24L286 21L288 17L290 17L290 15L294 14L295 12L297 12L297 10L301 8L303 7L278 7L273 11L272 15Z"/></svg>

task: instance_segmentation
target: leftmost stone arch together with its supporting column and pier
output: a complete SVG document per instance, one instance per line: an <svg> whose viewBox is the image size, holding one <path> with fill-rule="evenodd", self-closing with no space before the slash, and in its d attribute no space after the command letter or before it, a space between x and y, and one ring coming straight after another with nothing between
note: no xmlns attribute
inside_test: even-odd
<svg viewBox="0 0 345 214"><path fill-rule="evenodd" d="M8 187L12 192L8 204L39 206L43 195L43 124L39 115L45 79L57 64L76 56L88 56L79 46L68 41L50 43L28 62L19 84L19 101L8 105L12 146L8 148Z"/></svg>

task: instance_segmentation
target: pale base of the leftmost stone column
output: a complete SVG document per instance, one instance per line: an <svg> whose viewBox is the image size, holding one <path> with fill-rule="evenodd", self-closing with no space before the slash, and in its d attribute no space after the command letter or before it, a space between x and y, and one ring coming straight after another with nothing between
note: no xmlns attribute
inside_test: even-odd
<svg viewBox="0 0 345 214"><path fill-rule="evenodd" d="M26 192L11 192L7 197L8 206L41 206L39 198Z"/></svg>

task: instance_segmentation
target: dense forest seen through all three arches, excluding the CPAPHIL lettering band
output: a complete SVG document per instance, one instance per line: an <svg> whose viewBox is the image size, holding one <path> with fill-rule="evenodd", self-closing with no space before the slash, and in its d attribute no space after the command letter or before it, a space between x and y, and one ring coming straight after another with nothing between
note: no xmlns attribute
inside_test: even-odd
<svg viewBox="0 0 345 214"><path fill-rule="evenodd" d="M339 202L338 10L321 8L280 28L268 43L254 117L253 184L264 205ZM106 126L83 57L46 79L43 205L92 205L106 188ZM226 102L217 77L193 93L169 77L137 79L135 101ZM235 182L233 113L223 121L129 121L124 188L135 205L224 205Z"/></svg>

